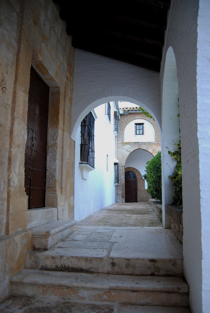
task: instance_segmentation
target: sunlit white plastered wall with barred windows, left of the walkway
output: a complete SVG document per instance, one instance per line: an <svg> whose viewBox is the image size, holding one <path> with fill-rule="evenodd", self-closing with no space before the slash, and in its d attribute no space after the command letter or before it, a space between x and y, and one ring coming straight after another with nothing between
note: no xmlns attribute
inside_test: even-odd
<svg viewBox="0 0 210 313"><path fill-rule="evenodd" d="M80 127L75 141L74 218L81 220L115 202L114 162L115 136L113 133L114 104L111 102L111 123L105 115L105 104L95 108L94 130L95 169L88 179L82 179L80 162ZM106 167L108 155L108 171Z"/></svg>

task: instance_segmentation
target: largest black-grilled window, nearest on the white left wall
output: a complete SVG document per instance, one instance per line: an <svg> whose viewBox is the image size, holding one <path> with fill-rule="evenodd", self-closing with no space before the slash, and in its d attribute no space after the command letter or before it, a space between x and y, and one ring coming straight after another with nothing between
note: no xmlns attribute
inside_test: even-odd
<svg viewBox="0 0 210 313"><path fill-rule="evenodd" d="M94 167L94 117L90 112L81 123L80 163Z"/></svg>

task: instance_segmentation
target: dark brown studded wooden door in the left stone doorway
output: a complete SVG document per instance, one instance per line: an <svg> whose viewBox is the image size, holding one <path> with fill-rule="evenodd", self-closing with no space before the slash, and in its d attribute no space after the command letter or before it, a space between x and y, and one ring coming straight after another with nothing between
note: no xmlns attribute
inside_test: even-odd
<svg viewBox="0 0 210 313"><path fill-rule="evenodd" d="M31 68L25 146L28 208L45 206L49 88Z"/></svg>

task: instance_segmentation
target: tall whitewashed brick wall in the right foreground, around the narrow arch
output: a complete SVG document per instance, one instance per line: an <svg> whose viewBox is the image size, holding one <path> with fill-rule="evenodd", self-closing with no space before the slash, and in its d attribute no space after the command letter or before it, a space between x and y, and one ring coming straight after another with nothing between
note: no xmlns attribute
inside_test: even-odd
<svg viewBox="0 0 210 313"><path fill-rule="evenodd" d="M171 46L176 58L180 105L184 275L190 285L192 313L207 313L210 307L207 247L210 37L206 31L209 32L209 4L208 0L200 0L199 9L198 0L171 1L160 74L162 88L165 57Z"/></svg>

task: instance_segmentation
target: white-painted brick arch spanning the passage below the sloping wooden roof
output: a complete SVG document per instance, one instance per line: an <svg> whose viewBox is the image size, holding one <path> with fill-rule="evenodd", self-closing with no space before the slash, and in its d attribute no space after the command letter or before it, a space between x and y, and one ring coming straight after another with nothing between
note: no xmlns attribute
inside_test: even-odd
<svg viewBox="0 0 210 313"><path fill-rule="evenodd" d="M140 105L161 127L159 73L76 49L73 91L73 140L85 115L109 101Z"/></svg>

